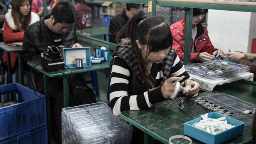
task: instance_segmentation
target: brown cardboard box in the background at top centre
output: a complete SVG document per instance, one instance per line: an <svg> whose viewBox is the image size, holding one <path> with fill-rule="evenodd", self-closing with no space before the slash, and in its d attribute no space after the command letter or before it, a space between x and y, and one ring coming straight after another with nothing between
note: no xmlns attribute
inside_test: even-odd
<svg viewBox="0 0 256 144"><path fill-rule="evenodd" d="M126 7L126 3L106 1L103 2L101 6L107 7L107 13L105 14L109 16L115 16L123 12L123 9Z"/></svg>

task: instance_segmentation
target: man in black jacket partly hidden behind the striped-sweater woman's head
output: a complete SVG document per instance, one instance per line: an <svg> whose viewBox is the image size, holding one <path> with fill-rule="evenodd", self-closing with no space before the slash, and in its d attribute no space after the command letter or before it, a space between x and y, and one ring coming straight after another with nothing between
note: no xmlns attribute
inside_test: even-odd
<svg viewBox="0 0 256 144"><path fill-rule="evenodd" d="M123 13L117 14L110 20L110 26L108 30L108 38L110 42L117 43L117 32L119 32L122 27L128 22L128 20L139 11L140 7L144 7L144 4L140 5L127 3L125 9L123 10ZM120 37L120 39L123 38L126 38L126 35L122 35Z"/></svg>

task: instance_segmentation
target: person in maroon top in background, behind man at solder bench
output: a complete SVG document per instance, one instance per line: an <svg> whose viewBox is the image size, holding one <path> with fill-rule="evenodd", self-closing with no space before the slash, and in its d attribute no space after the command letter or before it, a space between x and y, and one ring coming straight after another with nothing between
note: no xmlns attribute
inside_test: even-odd
<svg viewBox="0 0 256 144"><path fill-rule="evenodd" d="M85 4L84 0L75 0L75 11L77 16L76 29L91 28L91 8Z"/></svg>

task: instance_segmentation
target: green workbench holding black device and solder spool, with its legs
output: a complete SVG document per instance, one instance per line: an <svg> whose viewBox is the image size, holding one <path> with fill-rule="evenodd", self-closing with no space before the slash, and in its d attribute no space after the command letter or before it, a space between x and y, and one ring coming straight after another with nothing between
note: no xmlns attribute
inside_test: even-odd
<svg viewBox="0 0 256 144"><path fill-rule="evenodd" d="M53 72L46 72L43 70L41 66L41 60L33 60L27 62L29 66L34 68L36 71L39 71L43 74L43 80L44 80L44 91L46 95L46 109L47 109L47 126L48 126L48 136L49 136L49 142L52 142L52 132L51 132L51 119L50 119L50 96L49 96L49 85L48 83L49 78L62 78L63 80L63 101L64 101L64 107L69 107L69 83L66 77L71 76L71 69L65 69L63 70L63 73L61 71L53 71ZM90 67L84 67L80 69L72 69L72 74L75 73L84 73L89 71L96 71L100 69L109 69L110 62L103 62L101 64L91 64Z"/></svg>

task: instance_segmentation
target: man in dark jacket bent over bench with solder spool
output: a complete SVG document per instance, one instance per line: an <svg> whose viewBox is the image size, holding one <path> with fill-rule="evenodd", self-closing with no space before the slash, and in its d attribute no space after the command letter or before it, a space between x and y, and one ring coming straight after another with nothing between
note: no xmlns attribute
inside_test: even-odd
<svg viewBox="0 0 256 144"><path fill-rule="evenodd" d="M59 2L52 10L51 15L45 16L44 20L38 21L25 30L23 40L23 64L24 68L29 71L27 62L41 58L41 53L46 50L47 46L59 47L82 47L78 43L75 33L75 9L69 2ZM56 69L57 70L57 69ZM43 78L40 73L33 72L34 81L38 90L43 93ZM50 78L49 95L51 99L51 107L55 119L52 121L57 126L57 133L61 130L61 110L63 108L63 82L59 78ZM76 89L75 86L83 86L87 89ZM75 90L75 94L74 94ZM69 79L71 106L81 105L85 103L95 103L95 95L89 87L87 87L82 75L75 75ZM75 96L72 97L72 94ZM91 97L90 97L91 96ZM87 98L86 98L87 97Z"/></svg>

